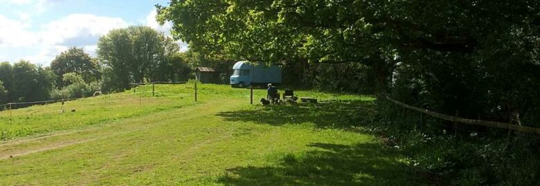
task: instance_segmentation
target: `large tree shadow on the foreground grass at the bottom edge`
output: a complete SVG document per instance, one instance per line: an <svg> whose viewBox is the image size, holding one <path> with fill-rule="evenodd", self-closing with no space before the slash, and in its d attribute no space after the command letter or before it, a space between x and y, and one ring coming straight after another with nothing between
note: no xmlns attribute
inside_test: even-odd
<svg viewBox="0 0 540 186"><path fill-rule="evenodd" d="M276 166L235 167L224 185L418 185L395 153L375 143L353 146L314 143L302 155L287 154Z"/></svg>

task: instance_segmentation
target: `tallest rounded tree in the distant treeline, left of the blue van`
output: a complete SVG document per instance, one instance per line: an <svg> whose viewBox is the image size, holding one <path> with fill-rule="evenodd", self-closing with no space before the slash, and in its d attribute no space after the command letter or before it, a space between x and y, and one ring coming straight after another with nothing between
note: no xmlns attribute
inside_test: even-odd
<svg viewBox="0 0 540 186"><path fill-rule="evenodd" d="M98 42L107 89L125 90L131 83L173 81L189 73L178 56L179 46L152 28L130 26L111 30ZM114 76L111 76L114 75ZM104 81L104 82L105 82Z"/></svg>

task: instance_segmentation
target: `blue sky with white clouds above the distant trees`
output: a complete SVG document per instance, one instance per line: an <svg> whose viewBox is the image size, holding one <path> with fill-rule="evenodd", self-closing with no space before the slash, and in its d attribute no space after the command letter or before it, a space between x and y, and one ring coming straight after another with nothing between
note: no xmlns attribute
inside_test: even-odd
<svg viewBox="0 0 540 186"><path fill-rule="evenodd" d="M96 55L100 36L128 25L148 25L170 34L171 23L159 25L154 5L166 0L0 0L0 61L28 60L49 65L71 46ZM185 43L179 44L183 50Z"/></svg>

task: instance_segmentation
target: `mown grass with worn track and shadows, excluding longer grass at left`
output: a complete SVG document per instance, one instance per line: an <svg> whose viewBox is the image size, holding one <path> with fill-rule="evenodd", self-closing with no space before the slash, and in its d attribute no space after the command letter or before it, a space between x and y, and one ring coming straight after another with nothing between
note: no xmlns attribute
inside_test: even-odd
<svg viewBox="0 0 540 186"><path fill-rule="evenodd" d="M0 185L421 184L374 136L325 127L341 119L328 118L323 104L208 99L7 141L0 145Z"/></svg>

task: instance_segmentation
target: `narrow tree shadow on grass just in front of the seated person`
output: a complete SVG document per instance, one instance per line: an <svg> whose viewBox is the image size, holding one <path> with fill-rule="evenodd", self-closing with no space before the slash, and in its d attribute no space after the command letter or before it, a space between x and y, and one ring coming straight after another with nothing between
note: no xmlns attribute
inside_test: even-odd
<svg viewBox="0 0 540 186"><path fill-rule="evenodd" d="M375 115L373 101L328 101L296 105L258 105L251 110L220 112L226 121L244 121L268 125L314 123L321 128L347 128L372 121Z"/></svg>

